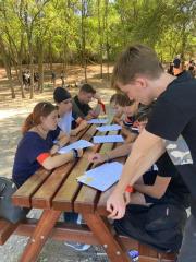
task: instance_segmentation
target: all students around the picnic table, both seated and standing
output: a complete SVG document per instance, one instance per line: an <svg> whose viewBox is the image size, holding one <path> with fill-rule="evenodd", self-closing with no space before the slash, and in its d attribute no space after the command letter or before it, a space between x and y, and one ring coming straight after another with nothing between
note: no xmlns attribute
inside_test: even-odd
<svg viewBox="0 0 196 262"><path fill-rule="evenodd" d="M109 217L120 222L115 224L117 229L128 229L125 227L127 221L123 219L128 206L171 204L187 209L191 205L192 215L179 261L195 262L196 80L187 72L176 76L168 74L154 50L136 45L120 56L113 69L112 84L121 93L111 97L110 106L126 140L107 154L89 155L89 162L96 164L128 156L121 179L107 201ZM66 90L58 87L53 98L56 106L48 102L38 103L23 126L13 166L13 180L19 187L40 166L52 169L82 157L81 150L63 155L56 153L69 143L70 135L76 135L87 127L88 119L98 117L101 109L106 110L88 84L84 84L74 98ZM94 109L88 105L93 98L97 100ZM166 217L168 212L167 207ZM159 223L160 219L156 225ZM171 231L174 229L173 226ZM156 237L156 228L155 231ZM87 247L78 248L85 249Z"/></svg>

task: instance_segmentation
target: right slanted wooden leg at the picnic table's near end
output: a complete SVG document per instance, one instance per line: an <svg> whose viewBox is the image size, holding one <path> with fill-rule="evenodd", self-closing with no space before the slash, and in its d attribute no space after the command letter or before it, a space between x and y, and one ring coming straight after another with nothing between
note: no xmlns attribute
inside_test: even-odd
<svg viewBox="0 0 196 262"><path fill-rule="evenodd" d="M127 253L113 236L108 223L99 214L83 214L88 227L105 248L111 262L128 262Z"/></svg>

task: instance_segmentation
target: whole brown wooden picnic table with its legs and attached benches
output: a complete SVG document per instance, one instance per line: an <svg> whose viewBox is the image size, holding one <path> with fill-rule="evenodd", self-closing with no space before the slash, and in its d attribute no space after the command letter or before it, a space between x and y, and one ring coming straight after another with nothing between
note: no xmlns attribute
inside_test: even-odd
<svg viewBox="0 0 196 262"><path fill-rule="evenodd" d="M109 132L117 133L117 132ZM99 134L96 126L91 124L82 131L73 141L84 139L91 141ZM105 134L108 134L106 132ZM0 221L0 245L12 235L29 236L29 240L20 259L21 262L35 262L48 238L69 240L90 245L101 245L112 262L130 261L127 250L139 251L140 262L174 262L175 254L160 253L125 236L118 236L109 223L106 201L113 187L100 192L76 181L86 170L93 167L88 163L90 152L108 152L119 144L97 144L85 150L78 160L68 163L54 170L40 168L12 196L15 205L28 209L41 209L39 219L26 218L13 225ZM118 160L125 162L121 157ZM86 225L71 225L58 222L62 212L78 212Z"/></svg>

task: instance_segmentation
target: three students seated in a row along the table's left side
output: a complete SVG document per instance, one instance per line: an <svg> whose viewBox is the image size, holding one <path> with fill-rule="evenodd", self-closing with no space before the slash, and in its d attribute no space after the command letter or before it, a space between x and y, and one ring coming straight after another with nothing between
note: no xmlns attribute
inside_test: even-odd
<svg viewBox="0 0 196 262"><path fill-rule="evenodd" d="M88 103L95 99L91 108ZM87 127L87 120L97 118L105 109L100 97L89 84L84 84L78 95L71 94L63 87L53 92L56 105L49 102L38 103L33 112L24 121L22 139L19 142L12 171L12 179L21 187L41 166L48 170L68 162L82 157L82 150L73 150L66 154L57 154L70 142L72 135ZM65 214L65 221L73 221L72 214ZM74 245L77 250L85 250L85 245Z"/></svg>

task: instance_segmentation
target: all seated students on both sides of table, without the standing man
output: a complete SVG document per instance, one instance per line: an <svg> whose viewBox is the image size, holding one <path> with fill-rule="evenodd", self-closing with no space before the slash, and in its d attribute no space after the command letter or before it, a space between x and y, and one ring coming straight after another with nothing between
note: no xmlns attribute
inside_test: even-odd
<svg viewBox="0 0 196 262"><path fill-rule="evenodd" d="M97 100L95 108L89 106L91 99ZM41 166L48 170L83 156L82 150L59 155L59 148L70 142L70 136L77 135L88 123L97 118L101 109L106 112L100 96L89 84L84 84L78 94L71 97L68 90L57 87L53 92L56 105L49 102L38 103L26 118L22 128L23 136L17 145L13 181L21 187ZM145 129L155 103L144 106L131 100L125 94L117 93L110 98L110 107L114 114L113 121L122 126L125 143L105 154L90 154L88 160L101 164L120 156L127 156L138 134ZM147 172L134 183L134 191L127 188L126 204L150 206L152 204L172 203L189 206L189 192L176 168L164 153ZM64 221L78 223L81 216L65 213ZM66 242L76 250L87 250L89 245Z"/></svg>

